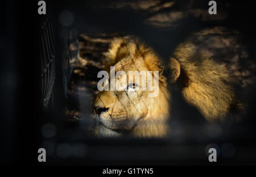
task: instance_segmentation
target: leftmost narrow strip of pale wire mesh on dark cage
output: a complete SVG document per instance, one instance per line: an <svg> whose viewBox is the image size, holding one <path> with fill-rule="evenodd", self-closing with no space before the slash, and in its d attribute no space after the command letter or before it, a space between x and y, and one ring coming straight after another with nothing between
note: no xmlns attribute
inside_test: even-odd
<svg viewBox="0 0 256 177"><path fill-rule="evenodd" d="M44 108L53 102L53 85L55 81L55 39L53 20L49 15L42 17L40 29L40 56L42 78L42 105Z"/></svg>

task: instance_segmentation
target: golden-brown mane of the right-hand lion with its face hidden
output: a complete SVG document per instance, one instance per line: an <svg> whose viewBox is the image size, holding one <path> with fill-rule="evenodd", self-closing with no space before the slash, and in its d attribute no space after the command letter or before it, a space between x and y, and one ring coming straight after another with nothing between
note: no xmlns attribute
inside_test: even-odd
<svg viewBox="0 0 256 177"><path fill-rule="evenodd" d="M174 60L180 64L184 99L197 107L208 120L223 119L230 108L240 108L233 88L232 78L224 64L218 64L199 52L193 43L180 44L174 51Z"/></svg>

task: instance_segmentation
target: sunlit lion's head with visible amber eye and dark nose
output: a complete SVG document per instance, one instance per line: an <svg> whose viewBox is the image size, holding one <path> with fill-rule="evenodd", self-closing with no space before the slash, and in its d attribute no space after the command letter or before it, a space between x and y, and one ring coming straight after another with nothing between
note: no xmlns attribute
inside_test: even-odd
<svg viewBox="0 0 256 177"><path fill-rule="evenodd" d="M166 121L170 95L158 56L138 40L121 38L112 41L106 56L106 70L110 75L113 72L110 66L114 66L115 78L105 86L109 91L101 91L94 101L97 133L101 136L132 134L163 137L168 130ZM118 75L118 71L125 72L126 77ZM152 88L143 89L145 82L142 75L135 79L130 71L135 75L152 71ZM147 73L146 81L149 79L150 75ZM113 81L114 86L119 88L110 90ZM125 85L119 84L121 82ZM157 82L159 87L155 87Z"/></svg>

